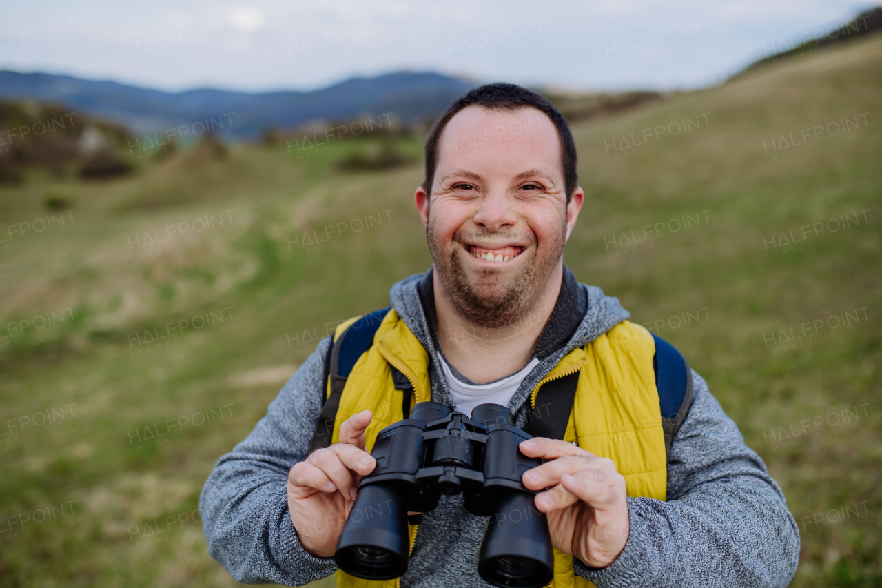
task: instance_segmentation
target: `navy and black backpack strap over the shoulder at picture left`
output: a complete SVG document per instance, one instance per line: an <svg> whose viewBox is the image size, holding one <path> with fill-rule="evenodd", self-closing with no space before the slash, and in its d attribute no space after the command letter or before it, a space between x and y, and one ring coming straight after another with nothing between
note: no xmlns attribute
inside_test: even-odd
<svg viewBox="0 0 882 588"><path fill-rule="evenodd" d="M377 328L391 308L392 306L386 306L356 319L334 340L328 350L328 356L325 358L325 386L328 395L323 399L322 411L318 415L316 428L312 433L310 453L331 445L333 423L340 409L340 396L343 396L343 388L346 386L349 373L352 373L358 358L362 357L374 343Z"/></svg>

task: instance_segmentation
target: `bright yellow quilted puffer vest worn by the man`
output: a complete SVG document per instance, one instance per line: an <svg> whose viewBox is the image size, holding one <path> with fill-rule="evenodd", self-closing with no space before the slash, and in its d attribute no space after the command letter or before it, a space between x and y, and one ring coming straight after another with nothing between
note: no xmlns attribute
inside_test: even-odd
<svg viewBox="0 0 882 588"><path fill-rule="evenodd" d="M358 318L341 323L334 339ZM585 347L564 356L533 389L530 403L533 406L536 394L545 382L580 371L564 441L577 441L580 448L615 462L627 482L629 496L647 496L663 501L668 469L655 388L654 352L655 342L647 329L624 320ZM406 375L413 385L411 406L431 400L429 354L394 308L377 328L373 345L358 358L349 373L334 420L334 443L340 441L340 424L365 409L373 413L373 420L365 433L369 451L377 433L404 418L401 408L403 392L395 389L390 365ZM330 386L325 394L330 394ZM416 531L417 525L411 525L411 549ZM576 576L572 569L572 555L557 549L554 555L554 579L549 586L594 586L594 583ZM342 570L336 577L337 585L341 587L398 586L397 578L385 582L363 580Z"/></svg>

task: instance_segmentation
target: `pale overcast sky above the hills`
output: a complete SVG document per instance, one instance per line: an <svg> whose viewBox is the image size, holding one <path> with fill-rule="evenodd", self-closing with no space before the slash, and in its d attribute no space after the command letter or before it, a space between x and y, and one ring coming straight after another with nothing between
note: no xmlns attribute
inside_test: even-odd
<svg viewBox="0 0 882 588"><path fill-rule="evenodd" d="M579 90L701 87L871 6L831 0L0 5L0 69L168 91L249 92L310 90L399 70Z"/></svg>

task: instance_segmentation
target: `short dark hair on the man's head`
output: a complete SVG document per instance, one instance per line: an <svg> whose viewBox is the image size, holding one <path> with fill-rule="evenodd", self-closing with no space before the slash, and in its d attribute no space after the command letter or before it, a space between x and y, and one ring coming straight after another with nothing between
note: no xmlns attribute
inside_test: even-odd
<svg viewBox="0 0 882 588"><path fill-rule="evenodd" d="M422 189L431 196L432 182L435 181L435 167L437 166L438 140L444 132L447 123L460 110L468 106L481 106L489 110L518 110L534 108L545 113L557 128L557 137L560 139L561 168L564 171L564 188L566 202L569 204L572 192L576 189L576 143L572 140L570 125L566 119L548 100L541 94L528 90L526 87L514 84L497 82L472 88L450 105L443 115L435 121L426 137L426 177L422 182Z"/></svg>

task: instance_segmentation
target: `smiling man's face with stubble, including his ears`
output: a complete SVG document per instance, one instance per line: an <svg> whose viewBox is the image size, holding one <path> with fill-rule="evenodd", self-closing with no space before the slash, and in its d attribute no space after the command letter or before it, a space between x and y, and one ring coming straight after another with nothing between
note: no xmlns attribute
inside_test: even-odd
<svg viewBox="0 0 882 588"><path fill-rule="evenodd" d="M559 288L584 198L577 188L567 206L557 129L538 109L469 106L447 124L437 153L431 197L415 193L435 279L476 324L524 316Z"/></svg>

